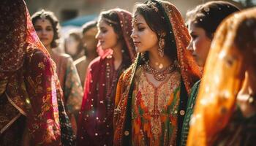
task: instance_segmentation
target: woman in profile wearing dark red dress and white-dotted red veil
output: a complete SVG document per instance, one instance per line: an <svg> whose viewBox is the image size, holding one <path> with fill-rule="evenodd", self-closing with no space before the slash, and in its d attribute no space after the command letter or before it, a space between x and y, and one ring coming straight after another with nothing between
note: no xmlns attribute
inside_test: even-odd
<svg viewBox="0 0 256 146"><path fill-rule="evenodd" d="M123 9L101 12L99 57L89 64L78 121L78 145L113 145L113 110L118 77L132 64L132 15Z"/></svg>

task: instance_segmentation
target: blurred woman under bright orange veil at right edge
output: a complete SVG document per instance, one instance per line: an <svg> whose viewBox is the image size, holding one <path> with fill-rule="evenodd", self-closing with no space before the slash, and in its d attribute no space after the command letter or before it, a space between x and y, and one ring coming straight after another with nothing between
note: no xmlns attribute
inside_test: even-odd
<svg viewBox="0 0 256 146"><path fill-rule="evenodd" d="M256 9L218 28L204 69L188 145L256 143Z"/></svg>

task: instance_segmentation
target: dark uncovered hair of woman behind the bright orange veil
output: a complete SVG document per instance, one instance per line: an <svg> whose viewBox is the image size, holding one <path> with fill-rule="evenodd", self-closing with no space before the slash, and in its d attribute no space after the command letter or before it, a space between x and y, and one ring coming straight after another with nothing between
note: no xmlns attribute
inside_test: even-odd
<svg viewBox="0 0 256 146"><path fill-rule="evenodd" d="M206 36L213 39L213 34L222 20L236 11L239 11L239 8L229 2L209 1L187 12L187 23L191 22L195 26L203 28L206 31Z"/></svg>

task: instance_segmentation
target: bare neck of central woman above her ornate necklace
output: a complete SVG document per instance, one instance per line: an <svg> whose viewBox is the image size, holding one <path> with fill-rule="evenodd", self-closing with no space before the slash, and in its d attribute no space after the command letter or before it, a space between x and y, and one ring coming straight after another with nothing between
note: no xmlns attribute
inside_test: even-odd
<svg viewBox="0 0 256 146"><path fill-rule="evenodd" d="M170 66L170 64L173 64L173 61L171 61L167 55L160 57L157 48L153 48L151 51L148 51L148 58L151 67L157 70L165 69L167 66Z"/></svg>

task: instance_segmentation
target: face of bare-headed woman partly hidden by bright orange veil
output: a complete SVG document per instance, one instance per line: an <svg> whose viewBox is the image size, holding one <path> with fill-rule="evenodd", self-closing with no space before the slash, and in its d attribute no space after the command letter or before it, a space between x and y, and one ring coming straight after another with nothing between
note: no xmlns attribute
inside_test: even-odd
<svg viewBox="0 0 256 146"><path fill-rule="evenodd" d="M189 42L187 50L192 52L199 66L204 66L211 47L211 39L206 36L206 31L203 28L197 27L191 22L189 23L189 34L192 39Z"/></svg>

